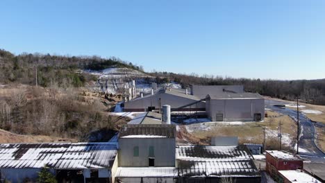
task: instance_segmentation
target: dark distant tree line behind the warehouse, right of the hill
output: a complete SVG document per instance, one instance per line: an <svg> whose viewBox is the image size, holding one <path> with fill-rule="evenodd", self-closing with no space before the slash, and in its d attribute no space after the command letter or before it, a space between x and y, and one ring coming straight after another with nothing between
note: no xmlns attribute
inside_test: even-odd
<svg viewBox="0 0 325 183"><path fill-rule="evenodd" d="M223 78L216 76L199 76L195 73L190 75L154 72L151 75L158 78L167 77L189 87L190 85L244 85L246 92L257 92L264 96L281 98L283 100L299 100L325 105L325 79L319 80L260 80L249 78Z"/></svg>

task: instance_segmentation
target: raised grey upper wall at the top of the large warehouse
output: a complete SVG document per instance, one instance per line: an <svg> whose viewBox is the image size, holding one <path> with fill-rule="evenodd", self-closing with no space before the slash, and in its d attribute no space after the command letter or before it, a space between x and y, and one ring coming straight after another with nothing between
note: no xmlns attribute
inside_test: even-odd
<svg viewBox="0 0 325 183"><path fill-rule="evenodd" d="M218 93L222 93L224 89L236 93L244 92L244 86L242 85L192 85L191 94L194 96L199 96L200 98L205 98L208 94L216 95Z"/></svg>

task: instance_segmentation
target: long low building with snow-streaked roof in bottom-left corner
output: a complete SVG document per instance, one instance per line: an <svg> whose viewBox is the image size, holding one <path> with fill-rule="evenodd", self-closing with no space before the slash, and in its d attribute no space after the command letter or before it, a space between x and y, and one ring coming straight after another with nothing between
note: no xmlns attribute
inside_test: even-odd
<svg viewBox="0 0 325 183"><path fill-rule="evenodd" d="M36 182L47 166L58 182L111 182L115 143L0 144L0 180Z"/></svg>

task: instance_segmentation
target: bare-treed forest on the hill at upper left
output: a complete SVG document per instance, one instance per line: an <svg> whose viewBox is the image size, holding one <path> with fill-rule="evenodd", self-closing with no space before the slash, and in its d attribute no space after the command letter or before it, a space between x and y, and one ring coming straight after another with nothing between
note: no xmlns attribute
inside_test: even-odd
<svg viewBox="0 0 325 183"><path fill-rule="evenodd" d="M40 53L14 55L0 49L0 82L17 82L35 85L36 72L38 84L42 87L81 87L94 76L81 74L78 70L101 70L110 67L124 67L143 71L141 66L125 62L119 58L100 58L98 56L65 56Z"/></svg>

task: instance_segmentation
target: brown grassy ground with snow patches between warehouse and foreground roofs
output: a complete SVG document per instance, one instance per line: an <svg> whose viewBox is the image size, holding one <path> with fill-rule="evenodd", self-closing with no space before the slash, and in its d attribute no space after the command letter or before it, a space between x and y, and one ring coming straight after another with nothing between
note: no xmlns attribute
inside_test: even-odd
<svg viewBox="0 0 325 183"><path fill-rule="evenodd" d="M296 123L289 116L283 116L276 112L267 111L267 115L268 117L263 122L207 122L187 125L185 130L193 136L192 139L201 139L201 143L208 143L211 137L216 136L239 137L240 143L263 143L263 128L266 128L265 141L267 148L278 149L280 148L280 143L278 143L277 128L279 127L279 122L281 122L281 134L283 134L281 148L290 150L296 143Z"/></svg>

